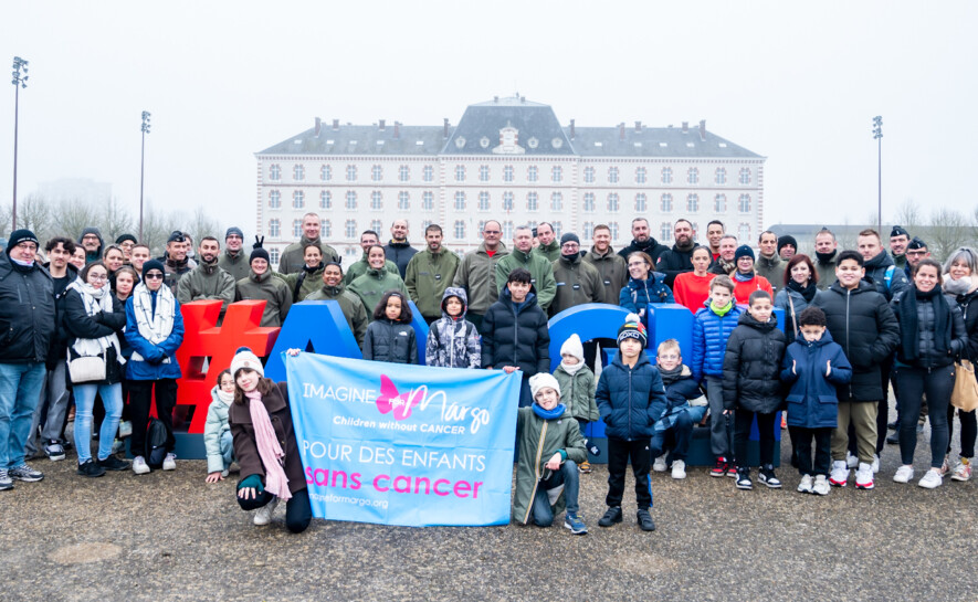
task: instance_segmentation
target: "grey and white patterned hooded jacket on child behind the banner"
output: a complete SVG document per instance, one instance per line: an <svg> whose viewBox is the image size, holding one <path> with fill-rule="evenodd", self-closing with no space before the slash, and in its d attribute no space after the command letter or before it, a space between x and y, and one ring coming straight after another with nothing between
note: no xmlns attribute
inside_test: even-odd
<svg viewBox="0 0 978 602"><path fill-rule="evenodd" d="M458 297L462 302L462 314L458 318L445 311L449 297ZM428 366L479 368L482 365L482 339L475 325L465 319L469 299L464 288L445 288L441 299L442 317L433 321L428 330L428 344L424 348L424 361Z"/></svg>

